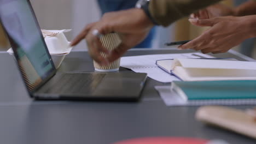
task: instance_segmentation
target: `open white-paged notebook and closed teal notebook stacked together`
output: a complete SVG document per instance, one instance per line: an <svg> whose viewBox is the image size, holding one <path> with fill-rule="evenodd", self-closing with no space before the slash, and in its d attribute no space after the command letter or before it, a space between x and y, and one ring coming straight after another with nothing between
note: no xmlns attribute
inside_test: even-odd
<svg viewBox="0 0 256 144"><path fill-rule="evenodd" d="M189 105L256 104L256 62L216 59L165 59L156 64L182 81L176 92Z"/></svg>

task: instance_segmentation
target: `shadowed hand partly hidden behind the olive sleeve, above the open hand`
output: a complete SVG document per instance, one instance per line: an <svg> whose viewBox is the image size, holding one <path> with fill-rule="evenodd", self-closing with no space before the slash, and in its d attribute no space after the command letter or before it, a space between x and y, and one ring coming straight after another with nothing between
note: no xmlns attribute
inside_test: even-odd
<svg viewBox="0 0 256 144"><path fill-rule="evenodd" d="M220 16L235 16L235 10L224 4L214 4L190 15L192 19L211 19Z"/></svg>

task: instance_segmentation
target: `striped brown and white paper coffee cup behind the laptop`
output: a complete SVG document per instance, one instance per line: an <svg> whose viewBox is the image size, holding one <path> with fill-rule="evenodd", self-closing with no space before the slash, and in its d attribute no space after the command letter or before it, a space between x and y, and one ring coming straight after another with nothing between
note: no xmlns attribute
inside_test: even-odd
<svg viewBox="0 0 256 144"><path fill-rule="evenodd" d="M108 49L109 51L113 51L115 48L118 47L118 45L121 44L121 39L119 38L119 35L117 33L109 33L109 34L103 35L100 41L102 46ZM103 57L106 57L106 54L103 52L101 52L101 55ZM118 71L119 67L120 67L120 58L117 59L117 61L114 61L109 65L105 65L105 66L101 66L94 61L94 68L96 71L104 71L104 72Z"/></svg>

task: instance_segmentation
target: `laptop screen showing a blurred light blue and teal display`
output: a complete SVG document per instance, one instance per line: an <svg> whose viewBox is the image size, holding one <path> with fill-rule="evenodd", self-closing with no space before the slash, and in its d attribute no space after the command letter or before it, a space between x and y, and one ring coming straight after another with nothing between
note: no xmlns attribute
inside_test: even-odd
<svg viewBox="0 0 256 144"><path fill-rule="evenodd" d="M0 0L0 20L29 92L48 80L55 67L27 0Z"/></svg>

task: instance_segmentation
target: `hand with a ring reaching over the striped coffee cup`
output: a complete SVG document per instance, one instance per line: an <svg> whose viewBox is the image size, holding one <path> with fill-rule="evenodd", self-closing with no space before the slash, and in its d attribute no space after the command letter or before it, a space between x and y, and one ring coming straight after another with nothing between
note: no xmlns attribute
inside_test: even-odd
<svg viewBox="0 0 256 144"><path fill-rule="evenodd" d="M146 38L150 28L153 26L153 23L142 9L134 8L106 13L100 21L87 25L72 40L71 46L77 45L81 40L86 39L88 51L92 59L100 65L108 65ZM100 39L92 34L92 31L95 29L103 35L110 32L118 33L122 43L115 50L109 52L102 46ZM101 52L106 53L107 57L102 57Z"/></svg>

